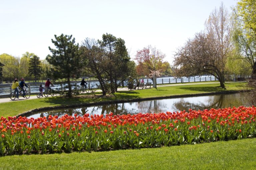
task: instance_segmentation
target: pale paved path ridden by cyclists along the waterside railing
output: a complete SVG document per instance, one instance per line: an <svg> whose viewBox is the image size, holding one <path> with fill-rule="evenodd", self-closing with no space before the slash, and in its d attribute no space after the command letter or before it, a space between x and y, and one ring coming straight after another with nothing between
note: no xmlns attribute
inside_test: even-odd
<svg viewBox="0 0 256 170"><path fill-rule="evenodd" d="M216 84L219 82L211 82L211 83L185 83L185 84L166 84L166 85L157 85L157 87L163 87L163 86L184 86L184 85L193 85L193 84ZM226 82L229 83L229 82ZM152 86L151 86L152 87ZM98 90L100 91L100 90ZM120 88L118 91L128 91L128 88ZM48 96L49 97L49 96ZM43 97L45 98L45 97ZM38 99L36 95L30 96L29 99L23 98L22 96L19 96L19 99L11 100L10 98L0 98L0 103L5 103L5 102L12 102L12 101L22 101L22 100L31 100L31 99Z"/></svg>

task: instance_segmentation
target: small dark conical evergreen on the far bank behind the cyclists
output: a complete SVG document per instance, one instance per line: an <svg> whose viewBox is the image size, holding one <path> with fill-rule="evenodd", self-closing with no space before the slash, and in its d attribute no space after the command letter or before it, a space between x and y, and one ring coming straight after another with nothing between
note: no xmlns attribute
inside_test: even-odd
<svg viewBox="0 0 256 170"><path fill-rule="evenodd" d="M28 72L30 76L34 76L35 77L35 81L36 81L36 77L40 77L41 72L42 72L42 66L41 66L41 61L40 58L37 55L33 55L30 59L29 59L29 67L28 67Z"/></svg>

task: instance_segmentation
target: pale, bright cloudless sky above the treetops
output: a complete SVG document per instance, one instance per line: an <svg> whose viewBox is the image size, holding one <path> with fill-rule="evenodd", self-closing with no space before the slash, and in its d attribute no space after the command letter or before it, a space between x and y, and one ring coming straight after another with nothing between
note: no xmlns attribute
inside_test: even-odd
<svg viewBox="0 0 256 170"><path fill-rule="evenodd" d="M237 0L222 0L225 7ZM172 64L174 51L196 32L221 0L1 0L0 54L26 51L44 59L54 34L101 39L112 34L125 40L133 58L147 45L156 46Z"/></svg>

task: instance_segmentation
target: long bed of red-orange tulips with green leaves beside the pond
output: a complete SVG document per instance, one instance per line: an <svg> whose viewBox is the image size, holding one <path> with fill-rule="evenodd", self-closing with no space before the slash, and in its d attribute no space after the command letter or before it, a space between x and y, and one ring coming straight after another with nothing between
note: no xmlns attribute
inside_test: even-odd
<svg viewBox="0 0 256 170"><path fill-rule="evenodd" d="M159 147L256 136L256 108L1 117L0 155Z"/></svg>

